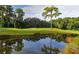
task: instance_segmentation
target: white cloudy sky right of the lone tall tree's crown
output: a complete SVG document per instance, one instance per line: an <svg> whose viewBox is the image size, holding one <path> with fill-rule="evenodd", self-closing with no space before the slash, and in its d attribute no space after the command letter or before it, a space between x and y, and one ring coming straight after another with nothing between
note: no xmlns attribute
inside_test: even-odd
<svg viewBox="0 0 79 59"><path fill-rule="evenodd" d="M79 6L78 5L58 5L59 11L62 13L60 17L78 17Z"/></svg>

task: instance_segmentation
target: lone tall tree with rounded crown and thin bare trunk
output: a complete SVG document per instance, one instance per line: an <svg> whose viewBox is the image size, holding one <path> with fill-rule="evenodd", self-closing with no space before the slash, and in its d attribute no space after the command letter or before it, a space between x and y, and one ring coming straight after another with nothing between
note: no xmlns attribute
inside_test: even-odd
<svg viewBox="0 0 79 59"><path fill-rule="evenodd" d="M45 7L44 8L44 12L42 13L42 15L45 17L45 18L50 18L50 22L51 22L51 25L50 27L52 28L52 18L53 17L57 17L59 16L61 13L59 13L59 10L57 7L55 6L49 6L49 7Z"/></svg>

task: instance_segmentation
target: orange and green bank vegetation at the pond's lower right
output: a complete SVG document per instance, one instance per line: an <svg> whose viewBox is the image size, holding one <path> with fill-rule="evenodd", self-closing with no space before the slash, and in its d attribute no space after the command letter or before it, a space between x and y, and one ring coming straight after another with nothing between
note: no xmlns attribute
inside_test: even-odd
<svg viewBox="0 0 79 59"><path fill-rule="evenodd" d="M69 37L66 38L66 43L65 48L63 53L65 54L79 54L79 37Z"/></svg>

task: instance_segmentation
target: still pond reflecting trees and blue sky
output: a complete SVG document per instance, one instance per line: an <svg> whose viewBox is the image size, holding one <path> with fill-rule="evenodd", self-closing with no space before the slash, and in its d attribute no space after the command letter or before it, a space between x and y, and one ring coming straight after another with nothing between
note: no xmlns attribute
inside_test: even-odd
<svg viewBox="0 0 79 59"><path fill-rule="evenodd" d="M77 35L4 35L0 36L0 54L62 54L72 37Z"/></svg>

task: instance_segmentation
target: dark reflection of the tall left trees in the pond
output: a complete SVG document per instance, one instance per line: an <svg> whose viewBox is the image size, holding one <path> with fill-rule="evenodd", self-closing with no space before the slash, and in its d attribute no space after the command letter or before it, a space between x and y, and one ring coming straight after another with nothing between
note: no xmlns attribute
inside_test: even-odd
<svg viewBox="0 0 79 59"><path fill-rule="evenodd" d="M0 40L0 53L10 54L13 50L21 51L23 43L21 39Z"/></svg>

